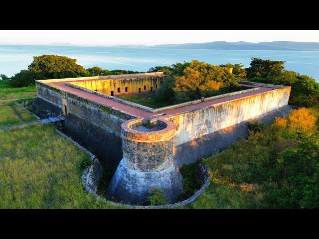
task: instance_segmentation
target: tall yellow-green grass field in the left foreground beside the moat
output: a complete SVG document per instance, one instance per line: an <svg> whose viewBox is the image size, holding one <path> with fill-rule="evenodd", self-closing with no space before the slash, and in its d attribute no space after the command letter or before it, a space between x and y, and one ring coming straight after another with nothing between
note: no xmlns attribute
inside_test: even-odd
<svg viewBox="0 0 319 239"><path fill-rule="evenodd" d="M89 157L48 124L0 132L0 208L114 208L88 194L79 162Z"/></svg>

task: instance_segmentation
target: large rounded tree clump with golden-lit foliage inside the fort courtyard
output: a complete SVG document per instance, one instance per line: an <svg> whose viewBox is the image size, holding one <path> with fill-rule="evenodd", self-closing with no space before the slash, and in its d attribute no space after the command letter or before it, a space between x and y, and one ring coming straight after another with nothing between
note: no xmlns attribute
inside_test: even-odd
<svg viewBox="0 0 319 239"><path fill-rule="evenodd" d="M197 60L173 64L169 76L157 95L174 104L240 90L227 68Z"/></svg>

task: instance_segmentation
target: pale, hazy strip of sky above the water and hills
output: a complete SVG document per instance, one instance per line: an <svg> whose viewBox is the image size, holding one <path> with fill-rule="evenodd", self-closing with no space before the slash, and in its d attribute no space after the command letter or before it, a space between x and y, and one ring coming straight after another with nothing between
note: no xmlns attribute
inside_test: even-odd
<svg viewBox="0 0 319 239"><path fill-rule="evenodd" d="M157 45L210 41L319 42L319 30L0 30L0 44Z"/></svg>

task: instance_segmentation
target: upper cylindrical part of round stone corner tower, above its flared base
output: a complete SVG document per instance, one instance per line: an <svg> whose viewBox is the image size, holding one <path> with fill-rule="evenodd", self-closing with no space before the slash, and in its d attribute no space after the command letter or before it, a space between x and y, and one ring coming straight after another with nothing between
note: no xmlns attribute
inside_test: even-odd
<svg viewBox="0 0 319 239"><path fill-rule="evenodd" d="M123 160L137 171L158 172L173 163L175 126L165 119L152 119L153 128L144 126L143 119L122 123Z"/></svg>

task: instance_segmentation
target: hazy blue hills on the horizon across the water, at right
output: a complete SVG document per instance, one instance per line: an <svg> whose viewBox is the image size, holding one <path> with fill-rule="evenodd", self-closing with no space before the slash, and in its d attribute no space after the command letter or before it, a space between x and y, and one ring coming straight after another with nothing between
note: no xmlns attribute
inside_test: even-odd
<svg viewBox="0 0 319 239"><path fill-rule="evenodd" d="M213 42L206 42L206 43L155 45L152 47L153 48L171 48L171 49L319 51L319 42L272 41L272 42L251 43L246 41L238 41L238 42L213 41Z"/></svg>

